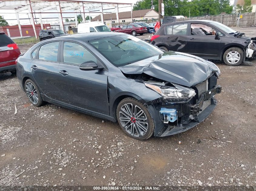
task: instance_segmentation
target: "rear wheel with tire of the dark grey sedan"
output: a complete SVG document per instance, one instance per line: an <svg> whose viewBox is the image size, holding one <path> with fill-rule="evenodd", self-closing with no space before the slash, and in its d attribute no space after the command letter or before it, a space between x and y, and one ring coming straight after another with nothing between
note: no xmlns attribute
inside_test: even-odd
<svg viewBox="0 0 256 191"><path fill-rule="evenodd" d="M35 84L35 82L31 79L27 79L25 81L25 92L29 99L29 101L36 107L39 107L43 103L43 99L41 97L39 88Z"/></svg>

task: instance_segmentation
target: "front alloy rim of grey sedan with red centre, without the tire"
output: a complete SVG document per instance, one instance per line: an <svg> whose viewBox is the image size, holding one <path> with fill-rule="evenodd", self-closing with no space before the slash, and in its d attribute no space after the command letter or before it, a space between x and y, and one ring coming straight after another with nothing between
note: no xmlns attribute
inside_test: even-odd
<svg viewBox="0 0 256 191"><path fill-rule="evenodd" d="M119 111L123 129L131 136L142 137L148 132L148 119L144 111L134 103L125 103Z"/></svg>

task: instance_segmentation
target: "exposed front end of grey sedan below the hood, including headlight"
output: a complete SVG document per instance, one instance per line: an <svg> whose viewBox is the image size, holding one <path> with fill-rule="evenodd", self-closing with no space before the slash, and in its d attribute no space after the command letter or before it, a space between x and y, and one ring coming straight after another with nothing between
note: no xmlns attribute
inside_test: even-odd
<svg viewBox="0 0 256 191"><path fill-rule="evenodd" d="M205 81L190 88L170 82L155 81L156 79L154 81L139 79L146 87L162 96L145 103L149 110L156 110L159 115L158 118L154 118L155 136L163 137L187 131L210 115L217 105L214 95L221 93L217 78L214 73Z"/></svg>

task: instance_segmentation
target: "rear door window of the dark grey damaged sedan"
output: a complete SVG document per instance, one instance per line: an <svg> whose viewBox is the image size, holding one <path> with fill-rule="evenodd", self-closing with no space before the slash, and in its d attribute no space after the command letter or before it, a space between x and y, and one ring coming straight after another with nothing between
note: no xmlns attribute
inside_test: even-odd
<svg viewBox="0 0 256 191"><path fill-rule="evenodd" d="M38 59L57 62L58 47L59 42L52 42L42 45L39 49Z"/></svg>

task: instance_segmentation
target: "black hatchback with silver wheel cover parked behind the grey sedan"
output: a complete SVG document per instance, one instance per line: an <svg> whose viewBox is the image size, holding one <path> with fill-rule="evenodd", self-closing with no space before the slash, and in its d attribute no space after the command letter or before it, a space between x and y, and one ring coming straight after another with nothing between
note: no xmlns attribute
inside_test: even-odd
<svg viewBox="0 0 256 191"><path fill-rule="evenodd" d="M203 59L223 60L237 66L256 55L252 39L216 21L190 20L163 24L151 43L168 51L178 51Z"/></svg>

